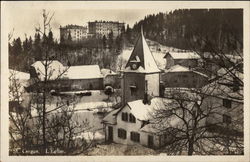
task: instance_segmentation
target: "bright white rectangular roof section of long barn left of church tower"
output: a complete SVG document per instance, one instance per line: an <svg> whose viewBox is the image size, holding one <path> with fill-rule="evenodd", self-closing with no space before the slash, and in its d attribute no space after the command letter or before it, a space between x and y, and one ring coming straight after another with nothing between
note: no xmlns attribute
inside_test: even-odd
<svg viewBox="0 0 250 162"><path fill-rule="evenodd" d="M81 65L71 66L66 77L69 79L93 79L102 78L102 74L98 65Z"/></svg>

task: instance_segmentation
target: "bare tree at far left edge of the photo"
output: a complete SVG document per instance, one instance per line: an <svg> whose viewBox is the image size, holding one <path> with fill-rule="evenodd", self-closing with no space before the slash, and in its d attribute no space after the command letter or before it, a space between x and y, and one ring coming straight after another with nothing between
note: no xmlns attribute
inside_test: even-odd
<svg viewBox="0 0 250 162"><path fill-rule="evenodd" d="M24 153L29 139L30 111L22 106L23 101L23 85L17 78L17 71L11 70L9 76L9 135L10 135L10 153L18 151ZM13 150L12 150L13 149Z"/></svg>

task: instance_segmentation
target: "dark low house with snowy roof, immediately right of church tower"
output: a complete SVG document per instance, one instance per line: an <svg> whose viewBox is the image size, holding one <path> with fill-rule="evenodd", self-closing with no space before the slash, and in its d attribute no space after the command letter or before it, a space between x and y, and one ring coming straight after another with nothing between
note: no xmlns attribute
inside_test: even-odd
<svg viewBox="0 0 250 162"><path fill-rule="evenodd" d="M174 65L161 75L164 87L201 88L208 83L208 76L181 65Z"/></svg>

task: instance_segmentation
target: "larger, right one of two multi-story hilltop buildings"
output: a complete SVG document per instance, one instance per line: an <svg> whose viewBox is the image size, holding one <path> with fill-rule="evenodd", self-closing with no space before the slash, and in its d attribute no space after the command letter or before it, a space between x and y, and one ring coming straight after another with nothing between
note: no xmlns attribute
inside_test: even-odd
<svg viewBox="0 0 250 162"><path fill-rule="evenodd" d="M102 38L104 35L108 37L108 34L113 32L113 37L117 37L122 33L124 23L118 21L94 21L88 22L89 35Z"/></svg>

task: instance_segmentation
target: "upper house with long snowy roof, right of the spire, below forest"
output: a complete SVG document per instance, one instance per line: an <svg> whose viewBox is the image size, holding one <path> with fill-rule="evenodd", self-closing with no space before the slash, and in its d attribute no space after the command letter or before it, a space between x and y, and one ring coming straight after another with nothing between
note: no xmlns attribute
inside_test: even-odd
<svg viewBox="0 0 250 162"><path fill-rule="evenodd" d="M195 68L199 64L200 56L195 52L167 52L164 58L166 59L166 69L177 64Z"/></svg>

